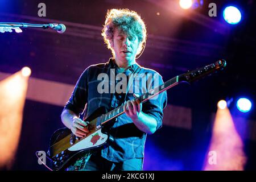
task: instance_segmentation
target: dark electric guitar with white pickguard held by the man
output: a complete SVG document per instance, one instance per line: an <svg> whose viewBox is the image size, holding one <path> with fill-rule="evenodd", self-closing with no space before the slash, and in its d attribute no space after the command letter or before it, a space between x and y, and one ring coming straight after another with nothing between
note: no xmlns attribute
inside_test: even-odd
<svg viewBox="0 0 256 182"><path fill-rule="evenodd" d="M226 61L223 59L218 60L214 64L175 76L174 78L164 82L164 84L142 94L138 99L143 104L157 94L180 84L180 82L192 82L225 67ZM93 114L85 119L85 121L89 121L89 133L86 137L76 137L68 128L62 128L55 131L50 139L49 150L47 152L47 157L52 162L53 170L59 171L67 168L71 162L75 161L76 157L81 152L83 152L83 155L89 156L93 152L93 148L101 147L108 142L109 135L104 131L105 124L113 121L113 119L123 113L123 104L108 113L105 113L104 108L102 107L97 109Z"/></svg>

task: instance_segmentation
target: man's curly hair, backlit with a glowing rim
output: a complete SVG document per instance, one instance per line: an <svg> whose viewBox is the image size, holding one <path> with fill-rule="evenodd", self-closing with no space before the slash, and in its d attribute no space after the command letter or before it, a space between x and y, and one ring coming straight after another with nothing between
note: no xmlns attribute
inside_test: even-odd
<svg viewBox="0 0 256 182"><path fill-rule="evenodd" d="M113 41L115 28L118 28L118 31L123 32L129 38L137 36L139 40L137 55L141 53L143 45L146 43L147 36L146 26L141 19L141 16L129 9L108 10L101 35L108 48L111 49L113 56L115 56L115 54L110 41Z"/></svg>

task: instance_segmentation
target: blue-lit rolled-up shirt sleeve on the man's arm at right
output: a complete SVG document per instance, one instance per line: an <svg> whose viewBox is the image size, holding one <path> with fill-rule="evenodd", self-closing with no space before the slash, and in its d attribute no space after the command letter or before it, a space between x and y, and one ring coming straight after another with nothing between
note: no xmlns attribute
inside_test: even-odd
<svg viewBox="0 0 256 182"><path fill-rule="evenodd" d="M152 82L152 85L154 85L154 88L162 84L163 84L163 80L161 76L159 76L158 85L154 85L154 81ZM166 107L166 105L167 105L167 93L166 91L164 91L160 93L158 96L153 97L150 100L147 100L146 102L144 102L142 106L143 113L146 113L156 119L156 122L157 122L156 130L162 127L163 109Z"/></svg>

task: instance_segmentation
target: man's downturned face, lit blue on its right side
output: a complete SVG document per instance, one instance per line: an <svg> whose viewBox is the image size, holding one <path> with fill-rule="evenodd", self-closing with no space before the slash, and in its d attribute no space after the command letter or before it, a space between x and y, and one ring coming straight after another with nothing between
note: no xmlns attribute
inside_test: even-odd
<svg viewBox="0 0 256 182"><path fill-rule="evenodd" d="M135 60L139 48L138 37L128 38L127 35L115 29L112 48L115 51L115 59L129 63Z"/></svg>

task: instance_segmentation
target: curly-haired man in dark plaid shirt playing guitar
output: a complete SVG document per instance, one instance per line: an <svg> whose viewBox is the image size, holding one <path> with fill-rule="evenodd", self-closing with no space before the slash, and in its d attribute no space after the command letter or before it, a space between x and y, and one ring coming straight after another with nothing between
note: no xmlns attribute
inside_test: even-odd
<svg viewBox="0 0 256 182"><path fill-rule="evenodd" d="M77 137L84 137L88 133L89 122L79 118L82 111L85 118L98 107L103 106L109 111L125 102L125 114L119 115L115 122L107 127L112 138L110 142L94 150L90 158L81 155L68 170L142 170L146 135L153 134L162 127L167 94L163 92L158 97L144 102L142 106L136 97L145 90L148 91L145 86L133 82L139 90L137 94L128 92L129 86L125 93L102 92L99 86L102 80L99 80L98 76L102 73L109 77L113 73L123 73L129 78L131 73L144 77L151 74L158 79L147 79L147 84L151 86L163 84L163 80L159 73L136 63L136 56L141 53L146 42L146 27L137 13L127 9L108 11L102 36L114 57L106 64L91 65L85 69L64 107L61 120ZM108 84L111 87L117 81L109 81ZM134 80L131 78L131 81Z"/></svg>

